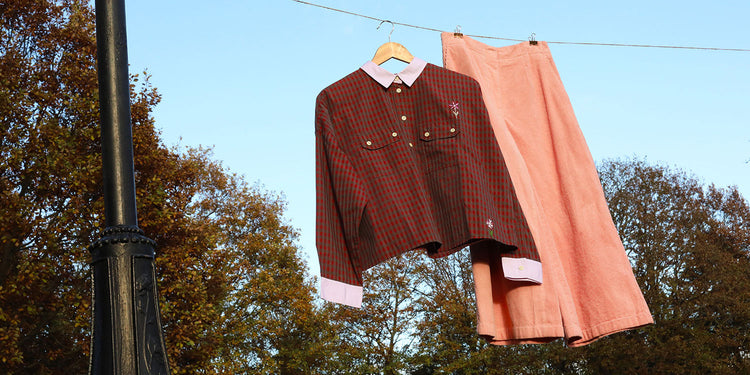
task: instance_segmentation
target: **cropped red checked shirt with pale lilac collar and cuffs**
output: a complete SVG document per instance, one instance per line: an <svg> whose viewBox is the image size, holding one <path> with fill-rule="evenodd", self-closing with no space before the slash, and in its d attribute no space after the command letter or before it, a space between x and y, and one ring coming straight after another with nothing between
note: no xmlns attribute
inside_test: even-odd
<svg viewBox="0 0 750 375"><path fill-rule="evenodd" d="M318 95L315 136L324 299L359 307L362 271L409 250L442 257L480 240L532 264L516 279L541 282L473 78L419 58L398 76L368 62Z"/></svg>

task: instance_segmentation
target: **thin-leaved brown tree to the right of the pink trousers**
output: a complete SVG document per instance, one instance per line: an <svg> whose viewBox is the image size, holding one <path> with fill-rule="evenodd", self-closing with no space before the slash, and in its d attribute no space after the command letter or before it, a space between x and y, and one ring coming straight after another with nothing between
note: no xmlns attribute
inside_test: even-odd
<svg viewBox="0 0 750 375"><path fill-rule="evenodd" d="M706 187L683 171L642 160L607 161L600 175L655 324L592 345L589 368L750 371L747 201L736 187Z"/></svg>

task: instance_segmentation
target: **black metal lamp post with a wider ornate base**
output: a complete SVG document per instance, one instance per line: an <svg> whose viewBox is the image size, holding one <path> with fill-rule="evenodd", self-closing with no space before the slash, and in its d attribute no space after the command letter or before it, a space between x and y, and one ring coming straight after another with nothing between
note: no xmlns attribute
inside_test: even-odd
<svg viewBox="0 0 750 375"><path fill-rule="evenodd" d="M138 228L124 0L96 0L106 228L91 246L92 375L169 374L154 248Z"/></svg>

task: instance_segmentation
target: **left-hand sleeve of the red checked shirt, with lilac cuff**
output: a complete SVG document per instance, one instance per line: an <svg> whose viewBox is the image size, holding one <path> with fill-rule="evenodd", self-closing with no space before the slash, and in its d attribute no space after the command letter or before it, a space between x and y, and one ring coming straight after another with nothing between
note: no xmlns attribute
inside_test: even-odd
<svg viewBox="0 0 750 375"><path fill-rule="evenodd" d="M361 307L362 275L351 252L357 246L354 234L367 199L362 181L337 144L330 105L322 92L315 109L315 242L320 260L320 296Z"/></svg>

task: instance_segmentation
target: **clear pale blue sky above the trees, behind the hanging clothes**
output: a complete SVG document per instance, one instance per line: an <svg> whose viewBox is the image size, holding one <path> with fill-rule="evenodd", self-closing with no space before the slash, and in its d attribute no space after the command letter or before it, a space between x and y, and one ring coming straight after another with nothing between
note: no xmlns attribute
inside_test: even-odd
<svg viewBox="0 0 750 375"><path fill-rule="evenodd" d="M750 48L748 1L310 2L473 35ZM164 142L212 147L231 172L283 193L317 274L315 97L371 59L390 25L292 0L125 3L130 71L147 70L163 96ZM396 25L391 38L442 65L439 33ZM550 48L594 160L638 156L750 197L750 52Z"/></svg>

